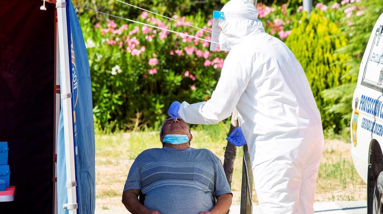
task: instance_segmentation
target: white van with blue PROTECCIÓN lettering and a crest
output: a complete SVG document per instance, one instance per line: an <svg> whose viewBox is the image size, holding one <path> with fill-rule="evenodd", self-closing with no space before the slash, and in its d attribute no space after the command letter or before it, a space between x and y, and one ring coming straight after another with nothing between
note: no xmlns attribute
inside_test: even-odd
<svg viewBox="0 0 383 214"><path fill-rule="evenodd" d="M353 96L351 155L367 183L367 213L383 213L383 13L376 21L359 68Z"/></svg>

